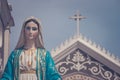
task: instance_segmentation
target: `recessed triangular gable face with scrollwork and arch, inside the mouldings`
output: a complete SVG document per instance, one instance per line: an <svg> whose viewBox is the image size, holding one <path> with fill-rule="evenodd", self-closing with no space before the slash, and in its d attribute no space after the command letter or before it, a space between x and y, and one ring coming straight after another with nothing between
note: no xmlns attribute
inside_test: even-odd
<svg viewBox="0 0 120 80"><path fill-rule="evenodd" d="M63 76L63 80L74 80L71 78L75 78L75 76L77 76L77 78L81 78L82 76L86 78L86 80L120 79L119 74L79 48L76 48L70 54L67 54L59 60L56 63L56 67ZM77 73L77 75L74 74L74 77L70 75L73 73ZM67 77L71 78L68 79ZM75 80L78 80L77 78L75 78Z"/></svg>

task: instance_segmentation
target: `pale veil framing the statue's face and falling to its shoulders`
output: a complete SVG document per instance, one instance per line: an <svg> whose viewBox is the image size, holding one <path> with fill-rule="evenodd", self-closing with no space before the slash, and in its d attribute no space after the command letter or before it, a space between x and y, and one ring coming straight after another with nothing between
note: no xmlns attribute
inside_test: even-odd
<svg viewBox="0 0 120 80"><path fill-rule="evenodd" d="M35 41L36 42L36 47L37 48L44 48L40 20L38 20L35 17L30 17L30 18L27 18L24 21L23 25L22 25L21 34L20 34L20 37L19 37L19 40L18 40L18 43L17 43L15 49L18 49L18 48L21 48L21 47L24 46L24 44L25 44L25 32L24 32L24 29L25 29L26 24L31 22L31 21L34 22L35 24L37 24L38 29L39 29L38 37L36 38L36 41Z"/></svg>

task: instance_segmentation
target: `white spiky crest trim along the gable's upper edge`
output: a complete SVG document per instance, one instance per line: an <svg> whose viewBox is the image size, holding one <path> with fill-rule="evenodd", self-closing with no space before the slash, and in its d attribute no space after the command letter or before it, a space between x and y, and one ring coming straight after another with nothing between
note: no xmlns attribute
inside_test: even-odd
<svg viewBox="0 0 120 80"><path fill-rule="evenodd" d="M70 37L68 40L61 43L60 46L57 46L55 49L52 49L51 51L52 56L55 57L56 55L58 55L59 53L61 53L62 51L64 51L66 48L70 47L77 41L88 46L88 48L94 50L99 55L105 57L106 59L120 67L120 58L116 57L114 54L111 54L108 50L101 47L100 45L97 45L95 42L92 42L90 39L87 39L82 34L74 35L73 37Z"/></svg>

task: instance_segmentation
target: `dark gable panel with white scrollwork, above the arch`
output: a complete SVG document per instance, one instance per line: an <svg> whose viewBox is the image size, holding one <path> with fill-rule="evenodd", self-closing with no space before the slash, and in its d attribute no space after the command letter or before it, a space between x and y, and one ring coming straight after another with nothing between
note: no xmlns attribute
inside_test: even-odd
<svg viewBox="0 0 120 80"><path fill-rule="evenodd" d="M69 54L65 59L56 64L59 73L64 76L72 72L84 72L95 75L96 77L103 78L105 80L119 80L120 75L114 73L110 69L107 69L103 64L92 59L79 49L73 54Z"/></svg>

